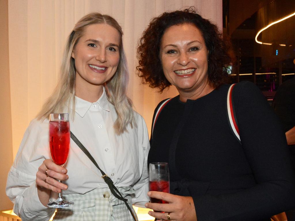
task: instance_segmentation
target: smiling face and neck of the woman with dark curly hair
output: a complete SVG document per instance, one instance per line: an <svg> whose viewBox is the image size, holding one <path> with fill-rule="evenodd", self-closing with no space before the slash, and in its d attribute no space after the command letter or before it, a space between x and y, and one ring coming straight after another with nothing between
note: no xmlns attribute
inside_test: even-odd
<svg viewBox="0 0 295 221"><path fill-rule="evenodd" d="M207 74L208 54L204 38L193 24L173 25L164 32L160 46L163 72L182 101L213 90Z"/></svg>

